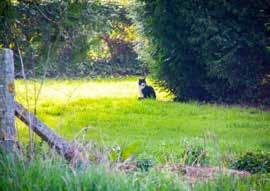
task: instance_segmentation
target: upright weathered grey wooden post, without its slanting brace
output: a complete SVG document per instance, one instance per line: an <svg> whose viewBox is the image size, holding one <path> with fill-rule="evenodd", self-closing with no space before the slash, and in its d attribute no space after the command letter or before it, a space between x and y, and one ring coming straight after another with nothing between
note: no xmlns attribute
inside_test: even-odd
<svg viewBox="0 0 270 191"><path fill-rule="evenodd" d="M14 61L10 49L0 49L0 147L14 148Z"/></svg>

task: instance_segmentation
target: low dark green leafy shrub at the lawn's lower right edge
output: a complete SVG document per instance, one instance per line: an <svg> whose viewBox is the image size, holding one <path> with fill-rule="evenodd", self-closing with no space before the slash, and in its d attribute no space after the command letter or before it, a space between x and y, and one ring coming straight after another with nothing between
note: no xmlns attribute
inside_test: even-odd
<svg viewBox="0 0 270 191"><path fill-rule="evenodd" d="M250 173L270 173L270 154L247 152L236 160L232 168Z"/></svg>

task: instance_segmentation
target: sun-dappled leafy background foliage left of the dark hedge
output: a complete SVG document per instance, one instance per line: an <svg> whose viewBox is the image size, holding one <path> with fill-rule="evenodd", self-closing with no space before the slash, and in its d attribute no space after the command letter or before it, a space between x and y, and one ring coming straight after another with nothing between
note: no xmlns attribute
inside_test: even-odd
<svg viewBox="0 0 270 191"><path fill-rule="evenodd" d="M20 57L30 76L134 74L142 70L132 39L125 33L132 22L123 6L85 0L4 0L0 11L0 46L14 50L19 76ZM104 41L106 35L117 47Z"/></svg>

